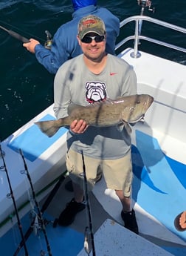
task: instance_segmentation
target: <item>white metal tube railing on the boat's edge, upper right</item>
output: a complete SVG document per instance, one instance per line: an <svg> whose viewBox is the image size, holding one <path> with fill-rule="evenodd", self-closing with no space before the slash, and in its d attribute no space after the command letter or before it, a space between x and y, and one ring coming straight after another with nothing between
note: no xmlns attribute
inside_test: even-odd
<svg viewBox="0 0 186 256"><path fill-rule="evenodd" d="M163 41L160 41L158 39L153 39L149 36L142 36L141 32L142 32L142 22L143 21L158 24L162 27L167 27L171 30L176 30L178 32L186 34L186 28L184 28L184 27L179 27L179 26L170 24L168 22L163 22L159 19L154 19L154 18L151 18L151 17L148 17L148 16L142 16L142 15L140 15L140 16L131 16L131 17L128 17L127 19L124 19L122 22L120 22L120 29L121 29L121 27L125 26L125 24L128 24L129 22L135 22L134 35L133 36L127 36L125 39L120 41L116 45L115 50L117 50L119 47L123 46L126 42L128 42L130 40L134 40L134 53L132 53L131 56L134 57L134 58L138 58L138 57L140 57L140 53L139 53L139 50L138 50L139 42L140 42L140 40L145 40L145 41L148 41L148 42L152 42L156 45L162 45L162 46L169 47L169 48L172 48L174 50L179 50L179 51L182 51L183 53L186 53L186 48L184 48L184 47L179 47L177 45L172 45L172 44L169 44L168 42L163 42Z"/></svg>

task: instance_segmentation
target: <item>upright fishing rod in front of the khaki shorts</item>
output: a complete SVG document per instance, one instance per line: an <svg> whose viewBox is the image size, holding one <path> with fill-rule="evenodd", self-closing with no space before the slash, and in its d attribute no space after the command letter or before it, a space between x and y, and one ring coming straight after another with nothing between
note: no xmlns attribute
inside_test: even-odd
<svg viewBox="0 0 186 256"><path fill-rule="evenodd" d="M86 218L88 223L85 229L84 249L88 255L92 251L92 256L96 256L95 247L94 247L94 233L92 228L92 214L91 214L90 203L89 203L89 191L87 186L86 167L85 167L83 151L81 151L81 155L82 155L82 161L83 161L83 174L80 174L80 176L83 177L83 191L84 191L84 198L86 202Z"/></svg>

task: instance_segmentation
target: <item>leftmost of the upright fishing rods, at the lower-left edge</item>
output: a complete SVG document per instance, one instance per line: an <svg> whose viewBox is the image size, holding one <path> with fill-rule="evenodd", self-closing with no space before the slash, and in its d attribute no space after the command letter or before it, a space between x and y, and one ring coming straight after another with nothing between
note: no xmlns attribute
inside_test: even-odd
<svg viewBox="0 0 186 256"><path fill-rule="evenodd" d="M29 256L29 253L28 253L28 250L27 250L27 245L26 245L26 242L24 240L24 233L23 233L23 229L22 229L22 226L21 226L21 220L20 220L19 215L18 215L18 208L16 206L15 197L13 195L13 188L12 188L11 183L10 183L10 177L9 177L9 174L8 174L8 171L7 171L7 165L6 165L5 160L4 160L4 153L1 149L1 145L0 145L0 154L1 154L1 157L2 157L2 160L3 160L3 165L4 165L4 166L1 166L1 171L5 171L5 173L7 175L8 185L9 185L9 188L10 188L10 193L7 194L7 197L12 197L12 199L13 199L13 206L14 206L15 215L16 215L16 218L17 218L17 221L18 221L18 229L20 231L21 239L23 241L25 256Z"/></svg>

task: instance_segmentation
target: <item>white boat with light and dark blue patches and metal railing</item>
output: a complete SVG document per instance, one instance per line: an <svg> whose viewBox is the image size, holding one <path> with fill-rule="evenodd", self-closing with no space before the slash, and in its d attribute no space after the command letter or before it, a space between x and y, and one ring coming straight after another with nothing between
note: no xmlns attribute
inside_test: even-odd
<svg viewBox="0 0 186 256"><path fill-rule="evenodd" d="M150 1L139 2L142 10L149 7ZM186 253L186 230L175 226L176 216L186 211L186 66L141 51L139 46L146 40L152 43L152 47L154 44L163 45L170 50L177 50L178 53L186 53L186 48L145 36L144 21L145 24L151 22L159 27L176 30L183 37L186 34L184 27L143 15L129 17L120 23L122 31L130 22L135 27L134 35L128 36L117 45L117 49L124 49L119 56L134 67L138 93L154 96L154 103L145 114L145 121L138 122L132 133L133 205L140 235L123 227L120 202L114 191L106 188L102 179L90 194L95 253L100 256L183 256ZM134 40L134 48L125 48L125 42L130 40ZM59 177L66 176L66 129L61 128L54 137L48 138L34 124L43 119L55 119L52 105L1 142L4 154L0 158L0 246L1 252L6 256L26 254L24 248L18 249L21 237L13 200L7 198L10 187L4 161L23 232L30 227L28 215L33 210L34 203L30 199L30 183L27 175L23 173L25 165L19 150L24 154L41 209ZM68 177L63 183L61 181L62 184L58 183L60 188L58 191L56 189L52 201L48 200L47 206L42 209L42 214L48 220L58 217L72 197L71 193L64 190L67 180ZM80 212L75 223L67 228L54 229L52 225L47 225L53 256L87 255L83 248L85 217L85 212ZM11 241L10 246L7 246L8 241ZM31 256L48 254L42 234L31 234L26 244ZM16 249L17 254L14 254ZM95 254L91 251L89 255Z"/></svg>

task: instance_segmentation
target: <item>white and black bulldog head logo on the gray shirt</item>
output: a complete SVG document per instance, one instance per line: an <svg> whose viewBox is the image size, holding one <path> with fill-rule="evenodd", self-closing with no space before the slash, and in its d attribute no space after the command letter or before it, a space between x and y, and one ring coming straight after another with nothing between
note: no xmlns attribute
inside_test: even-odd
<svg viewBox="0 0 186 256"><path fill-rule="evenodd" d="M86 82L86 101L100 102L106 99L106 85L103 82Z"/></svg>

